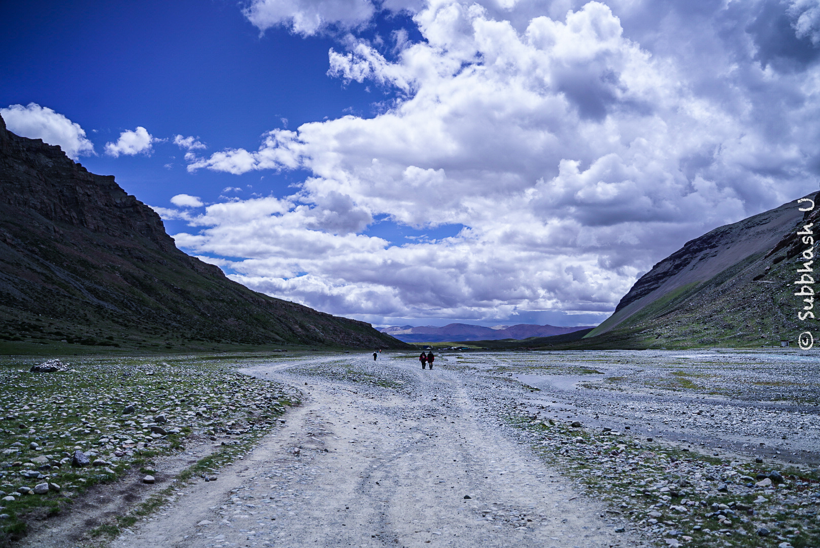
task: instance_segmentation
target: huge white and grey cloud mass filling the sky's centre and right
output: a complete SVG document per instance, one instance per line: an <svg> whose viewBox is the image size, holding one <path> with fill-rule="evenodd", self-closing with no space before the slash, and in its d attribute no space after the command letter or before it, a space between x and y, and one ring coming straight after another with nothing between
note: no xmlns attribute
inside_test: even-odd
<svg viewBox="0 0 820 548"><path fill-rule="evenodd" d="M605 317L686 240L817 189L811 2L548 4L428 2L423 40L392 57L342 40L329 75L392 89L389 108L191 158L310 176L208 206L177 242L331 313ZM459 228L391 243L367 235L376 222Z"/></svg>

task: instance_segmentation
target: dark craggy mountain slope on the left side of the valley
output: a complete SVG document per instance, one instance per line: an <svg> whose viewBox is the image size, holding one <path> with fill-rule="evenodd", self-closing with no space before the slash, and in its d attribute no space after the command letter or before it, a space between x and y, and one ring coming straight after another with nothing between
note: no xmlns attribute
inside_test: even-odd
<svg viewBox="0 0 820 548"><path fill-rule="evenodd" d="M113 176L0 118L0 351L285 344L408 347L231 281L177 249Z"/></svg>

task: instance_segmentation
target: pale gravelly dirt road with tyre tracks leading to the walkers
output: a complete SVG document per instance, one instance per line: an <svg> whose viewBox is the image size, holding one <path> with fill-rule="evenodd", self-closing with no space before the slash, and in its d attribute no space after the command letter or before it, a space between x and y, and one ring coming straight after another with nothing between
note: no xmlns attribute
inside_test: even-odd
<svg viewBox="0 0 820 548"><path fill-rule="evenodd" d="M217 482L112 546L639 546L494 422L469 374L399 355L246 370L305 392Z"/></svg>

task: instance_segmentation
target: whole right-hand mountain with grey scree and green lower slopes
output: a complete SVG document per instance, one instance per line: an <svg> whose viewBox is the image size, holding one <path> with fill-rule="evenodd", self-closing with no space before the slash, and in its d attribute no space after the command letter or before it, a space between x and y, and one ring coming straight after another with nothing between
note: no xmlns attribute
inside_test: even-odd
<svg viewBox="0 0 820 548"><path fill-rule="evenodd" d="M820 202L812 211L799 211L810 206L795 199L686 242L635 282L613 315L585 336L584 345L779 346L781 340L796 345L801 332L816 326L804 311L809 304L794 295L804 250L816 253L817 235L804 241L796 234L820 221ZM816 272L809 274L820 281Z"/></svg>

